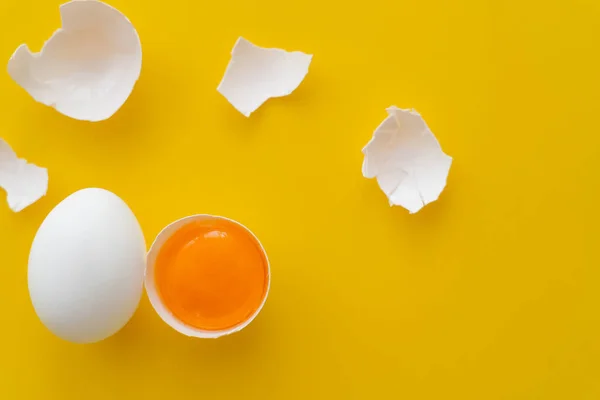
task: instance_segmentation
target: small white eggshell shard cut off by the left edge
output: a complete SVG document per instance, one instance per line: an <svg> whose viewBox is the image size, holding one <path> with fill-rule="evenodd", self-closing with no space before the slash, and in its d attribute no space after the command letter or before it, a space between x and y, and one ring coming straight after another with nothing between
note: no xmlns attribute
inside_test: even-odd
<svg viewBox="0 0 600 400"><path fill-rule="evenodd" d="M6 191L10 209L19 212L46 195L48 170L17 157L0 139L0 188Z"/></svg>

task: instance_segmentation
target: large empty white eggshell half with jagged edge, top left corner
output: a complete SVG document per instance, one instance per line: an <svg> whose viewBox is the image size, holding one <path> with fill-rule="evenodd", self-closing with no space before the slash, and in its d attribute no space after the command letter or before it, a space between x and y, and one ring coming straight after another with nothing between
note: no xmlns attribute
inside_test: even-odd
<svg viewBox="0 0 600 400"><path fill-rule="evenodd" d="M19 46L8 73L36 101L68 117L108 119L140 76L140 38L127 17L100 1L65 3L60 15L62 28L39 53Z"/></svg>

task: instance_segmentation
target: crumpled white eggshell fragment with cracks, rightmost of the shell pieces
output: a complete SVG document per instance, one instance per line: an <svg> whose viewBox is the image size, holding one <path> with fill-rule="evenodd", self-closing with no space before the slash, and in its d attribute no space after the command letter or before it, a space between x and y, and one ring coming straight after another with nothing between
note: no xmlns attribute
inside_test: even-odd
<svg viewBox="0 0 600 400"><path fill-rule="evenodd" d="M418 112L392 106L387 113L363 148L363 176L377 178L390 205L413 214L438 199L452 157L442 151Z"/></svg>

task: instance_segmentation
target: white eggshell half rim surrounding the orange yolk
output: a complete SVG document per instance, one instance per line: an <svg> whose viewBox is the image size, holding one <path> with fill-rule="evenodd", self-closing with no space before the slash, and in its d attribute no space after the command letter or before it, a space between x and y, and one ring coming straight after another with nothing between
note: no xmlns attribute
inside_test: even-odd
<svg viewBox="0 0 600 400"><path fill-rule="evenodd" d="M267 271L266 271L267 272L266 288L265 288L265 292L262 297L262 301L261 301L260 305L258 306L258 308L256 309L256 311L254 311L254 313L252 313L243 322L241 322L240 324L233 326L231 328L227 328L227 329L203 330L203 329L198 329L196 327L193 327L193 326L190 326L189 324L184 323L179 318L177 318L167 308L167 306L165 305L163 299L161 298L159 290L157 288L156 279L155 279L155 266L156 266L157 258L159 256L159 253L160 253L163 245L165 245L165 243L181 228L183 228L186 225L189 225L191 223L194 223L194 222L210 222L210 221L214 221L214 220L216 220L216 221L221 220L221 221L226 221L226 222L235 224L236 226L238 226L238 227L242 228L244 231L246 231L250 235L250 237L253 238L253 240L256 242L256 244L258 244L260 251L262 252L262 255L264 257L264 260L266 261L266 269L267 269ZM196 338L203 338L203 339L216 339L221 336L226 336L226 335L230 335L232 333L241 331L246 326L248 326L262 310L265 302L267 301L267 297L269 295L270 285L271 285L271 271L270 271L270 266L269 266L269 261L268 261L267 255L266 255L265 249L263 248L262 244L260 243L258 238L252 233L252 231L250 231L248 228L246 228L244 225L240 224L239 222L231 220L229 218L219 217L219 216L214 216L214 215L207 215L207 214L198 214L198 215L192 215L192 216L188 216L188 217L179 219L179 220L171 223L170 225L168 225L166 228L164 228L158 234L158 236L154 240L154 243L150 247L150 250L148 251L148 256L147 256L147 260L146 260L145 286L146 286L146 293L148 294L148 298L150 299L150 303L152 304L152 307L157 312L157 314L160 316L160 318L165 323L167 323L167 325L169 325L171 328L175 329L177 332L179 332L183 335L189 336L189 337L196 337Z"/></svg>

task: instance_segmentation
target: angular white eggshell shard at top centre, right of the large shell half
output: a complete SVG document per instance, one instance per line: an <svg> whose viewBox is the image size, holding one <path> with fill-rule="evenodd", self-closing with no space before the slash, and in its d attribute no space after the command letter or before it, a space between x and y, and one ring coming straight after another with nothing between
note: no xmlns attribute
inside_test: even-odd
<svg viewBox="0 0 600 400"><path fill-rule="evenodd" d="M240 37L217 91L249 117L268 99L296 90L311 60L310 54L258 47Z"/></svg>

